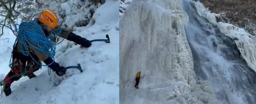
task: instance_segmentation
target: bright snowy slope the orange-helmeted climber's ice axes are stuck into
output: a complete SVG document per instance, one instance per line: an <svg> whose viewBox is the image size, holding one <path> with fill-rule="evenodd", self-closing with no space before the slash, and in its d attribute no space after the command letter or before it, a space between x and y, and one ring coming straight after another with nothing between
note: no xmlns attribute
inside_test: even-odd
<svg viewBox="0 0 256 104"><path fill-rule="evenodd" d="M64 40L57 46L56 62L61 66L80 63L83 73L69 69L64 76L59 77L53 72L48 76L47 68L42 67L36 72L38 77L30 80L24 77L14 82L12 94L8 97L3 95L0 104L118 104L118 5L118 1L106 1L96 10L94 25L76 28L74 32L89 40L105 38L109 34L110 44L93 42L90 48L80 48ZM1 66L8 64L1 63ZM9 68L2 70L1 73L6 74Z"/></svg>

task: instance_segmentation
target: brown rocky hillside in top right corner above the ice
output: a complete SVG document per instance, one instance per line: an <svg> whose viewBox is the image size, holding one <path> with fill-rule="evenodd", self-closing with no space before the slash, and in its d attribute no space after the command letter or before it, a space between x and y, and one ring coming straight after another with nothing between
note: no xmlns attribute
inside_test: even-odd
<svg viewBox="0 0 256 104"><path fill-rule="evenodd" d="M211 12L220 14L217 22L230 23L256 35L255 0L200 0Z"/></svg>

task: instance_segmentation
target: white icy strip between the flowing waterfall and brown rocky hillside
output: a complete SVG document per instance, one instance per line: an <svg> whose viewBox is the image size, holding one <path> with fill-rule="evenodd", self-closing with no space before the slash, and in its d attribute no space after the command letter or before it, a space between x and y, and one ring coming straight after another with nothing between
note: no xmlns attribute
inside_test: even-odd
<svg viewBox="0 0 256 104"><path fill-rule="evenodd" d="M243 28L238 28L232 24L217 23L215 17L218 16L218 14L210 13L200 2L192 2L197 9L198 15L216 25L222 34L234 39L242 58L244 58L248 66L256 72L256 37L247 33Z"/></svg>

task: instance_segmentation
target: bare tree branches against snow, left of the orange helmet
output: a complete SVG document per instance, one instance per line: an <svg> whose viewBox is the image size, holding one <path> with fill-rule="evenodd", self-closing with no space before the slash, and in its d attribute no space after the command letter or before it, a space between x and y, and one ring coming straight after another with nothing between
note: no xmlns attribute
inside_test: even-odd
<svg viewBox="0 0 256 104"><path fill-rule="evenodd" d="M4 34L4 27L18 35L16 22L32 20L42 8L49 6L50 2L63 3L67 0L0 0L0 36ZM2 16L2 18L1 18Z"/></svg>

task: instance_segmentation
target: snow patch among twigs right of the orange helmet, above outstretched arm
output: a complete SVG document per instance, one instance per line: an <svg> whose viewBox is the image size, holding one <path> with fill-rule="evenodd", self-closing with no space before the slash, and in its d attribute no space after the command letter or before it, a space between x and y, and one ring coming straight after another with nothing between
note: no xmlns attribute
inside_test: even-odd
<svg viewBox="0 0 256 104"><path fill-rule="evenodd" d="M64 15L64 18L59 18L59 23L63 23L62 26L73 28L77 22L90 20L93 15L92 11L98 9L99 6L101 6L101 3L96 4L92 0L68 0L60 4L59 8L56 8L55 5L51 5L50 7ZM64 21L61 19L64 19Z"/></svg>

